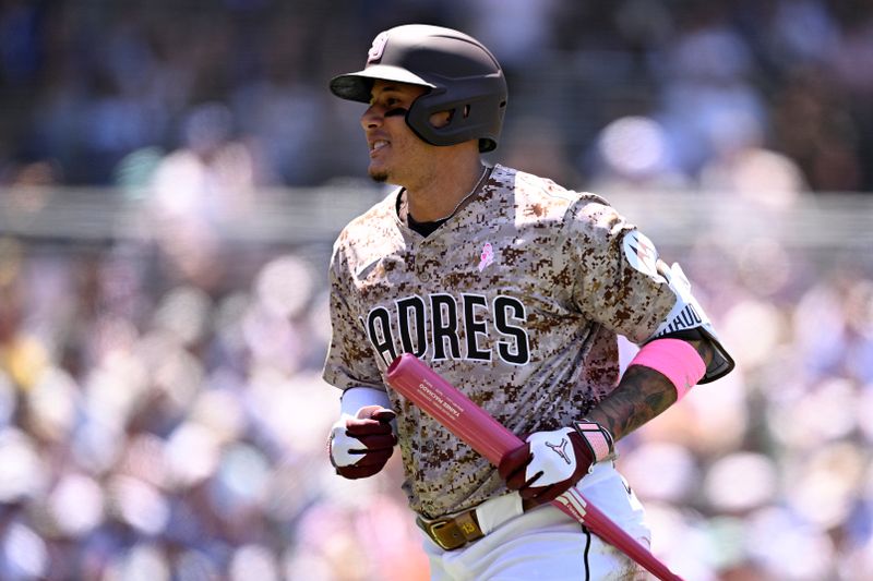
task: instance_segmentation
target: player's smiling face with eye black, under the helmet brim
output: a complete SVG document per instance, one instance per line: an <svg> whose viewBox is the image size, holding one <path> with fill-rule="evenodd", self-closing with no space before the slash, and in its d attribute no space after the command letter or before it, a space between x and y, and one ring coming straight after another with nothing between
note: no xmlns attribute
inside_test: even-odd
<svg viewBox="0 0 873 581"><path fill-rule="evenodd" d="M427 167L428 150L433 146L421 141L406 124L406 111L424 90L405 83L373 84L370 107L361 117L370 148L368 172L373 180L404 185L415 172Z"/></svg>

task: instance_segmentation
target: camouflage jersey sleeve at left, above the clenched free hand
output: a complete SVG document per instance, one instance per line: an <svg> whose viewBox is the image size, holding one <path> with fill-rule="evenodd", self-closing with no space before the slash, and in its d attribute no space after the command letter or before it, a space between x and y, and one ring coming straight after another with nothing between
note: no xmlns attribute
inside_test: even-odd
<svg viewBox="0 0 873 581"><path fill-rule="evenodd" d="M339 243L334 247L328 270L331 299L331 344L322 377L343 390L372 387L384 391L382 374L375 363L372 346L355 310L348 263Z"/></svg>

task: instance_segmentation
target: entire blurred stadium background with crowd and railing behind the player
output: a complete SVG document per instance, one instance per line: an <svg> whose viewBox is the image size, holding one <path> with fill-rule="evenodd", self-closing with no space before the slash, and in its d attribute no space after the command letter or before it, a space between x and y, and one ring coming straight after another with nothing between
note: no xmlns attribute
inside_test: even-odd
<svg viewBox="0 0 873 581"><path fill-rule="evenodd" d="M385 193L325 86L405 22L493 49L489 159L609 198L736 354L621 443L655 552L873 577L869 2L8 0L0 579L427 578L320 379L331 243Z"/></svg>

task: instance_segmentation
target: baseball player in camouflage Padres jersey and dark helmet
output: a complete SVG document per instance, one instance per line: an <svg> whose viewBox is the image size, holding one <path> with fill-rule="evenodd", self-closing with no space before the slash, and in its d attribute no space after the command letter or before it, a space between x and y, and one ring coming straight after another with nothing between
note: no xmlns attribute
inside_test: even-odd
<svg viewBox="0 0 873 581"><path fill-rule="evenodd" d="M369 174L398 186L343 230L331 261L337 473L371 476L399 448L434 580L642 576L549 503L575 486L649 543L613 445L733 366L682 269L605 199L482 162L507 92L470 36L383 32L331 90L368 104ZM642 346L622 377L618 335ZM386 387L404 352L525 444L494 467Z"/></svg>

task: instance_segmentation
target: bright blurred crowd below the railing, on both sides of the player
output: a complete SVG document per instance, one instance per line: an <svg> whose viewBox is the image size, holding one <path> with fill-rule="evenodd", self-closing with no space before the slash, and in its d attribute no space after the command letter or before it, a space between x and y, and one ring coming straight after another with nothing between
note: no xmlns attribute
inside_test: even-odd
<svg viewBox="0 0 873 581"><path fill-rule="evenodd" d="M164 210L141 240L0 238L0 579L427 579L396 455L326 459L323 261L186 247ZM661 253L739 364L619 445L653 549L692 581L870 579L869 252L695 240Z"/></svg>

